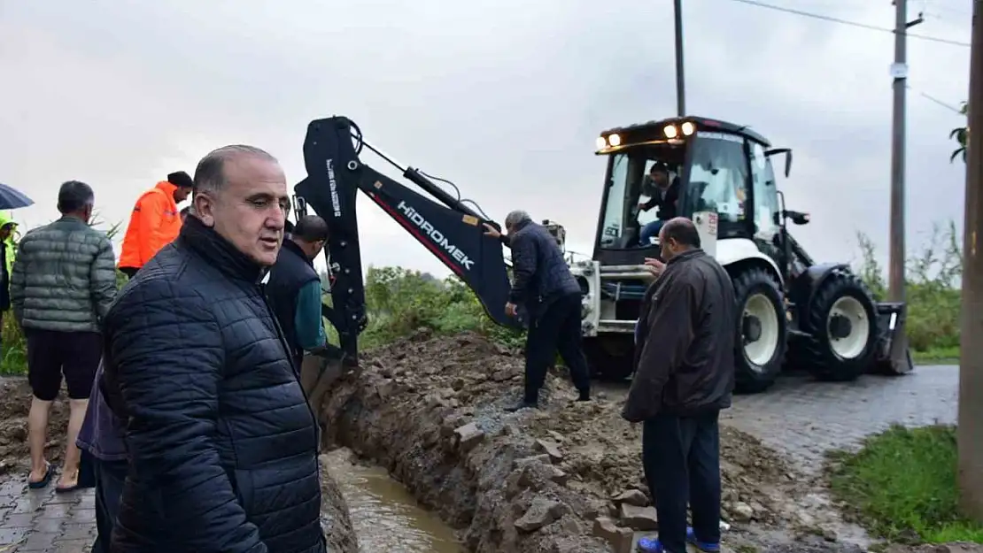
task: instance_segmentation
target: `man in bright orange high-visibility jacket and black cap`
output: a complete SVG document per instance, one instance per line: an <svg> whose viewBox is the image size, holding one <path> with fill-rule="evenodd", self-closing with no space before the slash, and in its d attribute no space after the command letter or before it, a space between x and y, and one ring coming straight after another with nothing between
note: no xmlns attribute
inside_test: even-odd
<svg viewBox="0 0 983 553"><path fill-rule="evenodd" d="M178 203L191 195L193 186L188 173L178 171L140 196L123 238L120 271L133 278L150 257L178 237L182 222Z"/></svg>

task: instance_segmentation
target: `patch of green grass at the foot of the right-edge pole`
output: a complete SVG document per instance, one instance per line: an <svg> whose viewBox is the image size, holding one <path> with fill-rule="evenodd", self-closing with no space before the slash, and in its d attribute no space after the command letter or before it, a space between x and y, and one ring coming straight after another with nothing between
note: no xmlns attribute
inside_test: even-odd
<svg viewBox="0 0 983 553"><path fill-rule="evenodd" d="M879 538L983 543L983 525L957 511L954 426L895 425L856 453L833 454L830 488Z"/></svg>

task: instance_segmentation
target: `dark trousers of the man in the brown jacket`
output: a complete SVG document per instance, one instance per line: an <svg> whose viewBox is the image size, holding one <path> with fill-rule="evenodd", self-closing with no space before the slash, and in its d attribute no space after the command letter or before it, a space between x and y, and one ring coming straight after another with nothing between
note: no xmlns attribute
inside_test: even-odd
<svg viewBox="0 0 983 553"><path fill-rule="evenodd" d="M696 539L721 541L719 415L657 415L643 422L642 466L667 553L686 551L687 502Z"/></svg>

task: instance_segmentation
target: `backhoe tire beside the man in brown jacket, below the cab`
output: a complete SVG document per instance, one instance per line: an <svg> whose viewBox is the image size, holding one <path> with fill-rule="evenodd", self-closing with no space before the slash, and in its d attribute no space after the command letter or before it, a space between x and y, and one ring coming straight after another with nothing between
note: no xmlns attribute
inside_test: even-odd
<svg viewBox="0 0 983 553"><path fill-rule="evenodd" d="M732 275L737 320L734 388L764 392L775 383L787 344L787 319L781 284L768 271L751 267Z"/></svg>

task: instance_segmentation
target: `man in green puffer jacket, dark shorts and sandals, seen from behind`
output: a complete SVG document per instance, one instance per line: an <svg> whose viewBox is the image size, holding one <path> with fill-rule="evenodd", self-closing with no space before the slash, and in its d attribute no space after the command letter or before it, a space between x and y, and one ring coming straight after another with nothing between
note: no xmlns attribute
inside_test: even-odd
<svg viewBox="0 0 983 553"><path fill-rule="evenodd" d="M58 191L62 217L24 236L11 271L11 304L28 339L34 395L28 416L31 488L47 486L54 473L44 458L44 443L48 412L63 378L70 415L65 463L55 491L72 491L79 483L76 439L102 357L99 324L116 296L112 243L88 226L94 201L87 184L63 184Z"/></svg>

